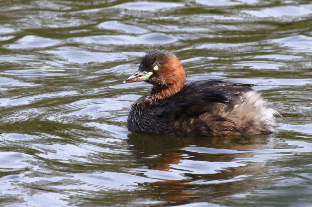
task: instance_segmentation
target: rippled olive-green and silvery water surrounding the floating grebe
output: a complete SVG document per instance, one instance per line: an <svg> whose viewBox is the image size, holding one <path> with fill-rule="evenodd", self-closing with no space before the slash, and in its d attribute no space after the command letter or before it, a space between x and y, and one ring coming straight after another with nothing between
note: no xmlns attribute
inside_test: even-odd
<svg viewBox="0 0 312 207"><path fill-rule="evenodd" d="M255 87L270 136L129 132L151 48ZM0 1L0 206L310 206L309 0Z"/></svg>

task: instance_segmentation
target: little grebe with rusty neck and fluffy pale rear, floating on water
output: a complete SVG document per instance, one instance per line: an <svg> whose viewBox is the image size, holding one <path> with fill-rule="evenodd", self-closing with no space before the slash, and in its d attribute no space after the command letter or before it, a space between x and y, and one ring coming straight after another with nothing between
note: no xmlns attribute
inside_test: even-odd
<svg viewBox="0 0 312 207"><path fill-rule="evenodd" d="M184 86L184 67L170 51L148 52L124 83L136 81L153 87L131 106L129 130L177 136L256 135L275 130L278 113L252 89L253 84L212 79Z"/></svg>

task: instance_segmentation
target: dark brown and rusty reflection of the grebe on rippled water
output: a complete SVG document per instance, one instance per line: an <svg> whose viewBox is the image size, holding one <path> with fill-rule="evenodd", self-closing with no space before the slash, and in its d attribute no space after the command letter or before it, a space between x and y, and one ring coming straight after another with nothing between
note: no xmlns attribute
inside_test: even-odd
<svg viewBox="0 0 312 207"><path fill-rule="evenodd" d="M147 184L156 191L155 196L160 196L163 200L175 204L188 203L196 200L196 197L199 196L213 199L219 196L243 193L253 188L254 182L250 182L250 185L247 186L245 181L239 179L233 181L233 178L252 176L254 173L266 173L268 168L263 166L263 162L259 164L259 162L248 161L248 159L259 154L253 152L254 150L273 148L278 140L273 135L188 138L135 132L129 134L128 137L137 168L168 173L178 172L179 175L182 175L177 180L163 179ZM187 147L190 146L200 147L205 152L189 151ZM210 149L236 150L237 153L210 153ZM240 153L240 151L244 152ZM203 174L177 169L183 160L191 160L191 164L192 161L193 164L196 164L196 161L243 164L240 167L221 168L215 173ZM234 182L235 185L233 185Z"/></svg>

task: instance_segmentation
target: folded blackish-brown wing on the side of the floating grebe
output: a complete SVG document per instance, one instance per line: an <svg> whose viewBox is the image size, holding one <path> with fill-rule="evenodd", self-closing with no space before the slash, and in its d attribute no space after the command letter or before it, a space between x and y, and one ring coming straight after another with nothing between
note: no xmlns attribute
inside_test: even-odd
<svg viewBox="0 0 312 207"><path fill-rule="evenodd" d="M224 111L231 111L243 102L240 94L252 91L253 86L222 79L193 82L159 104L155 113L179 119L199 116L205 112L215 113L216 108L220 107Z"/></svg>

